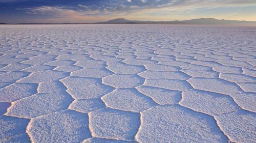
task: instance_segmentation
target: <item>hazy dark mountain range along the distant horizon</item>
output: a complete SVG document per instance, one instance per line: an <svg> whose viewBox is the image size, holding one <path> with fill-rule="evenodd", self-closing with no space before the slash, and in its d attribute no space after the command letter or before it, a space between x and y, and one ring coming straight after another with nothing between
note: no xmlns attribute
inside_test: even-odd
<svg viewBox="0 0 256 143"><path fill-rule="evenodd" d="M0 23L7 24L7 23ZM232 24L232 25L256 25L256 21L239 21L239 20L225 20L215 18L199 18L191 20L175 20L175 21L140 21L140 20L127 20L124 18L117 18L104 22L96 23L15 23L15 24Z"/></svg>

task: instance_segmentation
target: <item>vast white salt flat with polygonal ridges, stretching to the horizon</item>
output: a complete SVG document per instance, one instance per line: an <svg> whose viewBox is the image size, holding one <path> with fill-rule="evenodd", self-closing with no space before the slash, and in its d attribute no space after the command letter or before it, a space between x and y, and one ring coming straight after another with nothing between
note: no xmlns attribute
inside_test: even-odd
<svg viewBox="0 0 256 143"><path fill-rule="evenodd" d="M1 25L0 142L255 142L256 27Z"/></svg>

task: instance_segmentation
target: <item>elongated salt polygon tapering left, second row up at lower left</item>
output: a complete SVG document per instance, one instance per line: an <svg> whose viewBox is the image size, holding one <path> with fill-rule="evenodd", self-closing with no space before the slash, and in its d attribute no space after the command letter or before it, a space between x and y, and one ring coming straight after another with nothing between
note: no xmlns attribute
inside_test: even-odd
<svg viewBox="0 0 256 143"><path fill-rule="evenodd" d="M12 104L6 115L35 118L58 110L67 109L73 99L66 92L36 94Z"/></svg>

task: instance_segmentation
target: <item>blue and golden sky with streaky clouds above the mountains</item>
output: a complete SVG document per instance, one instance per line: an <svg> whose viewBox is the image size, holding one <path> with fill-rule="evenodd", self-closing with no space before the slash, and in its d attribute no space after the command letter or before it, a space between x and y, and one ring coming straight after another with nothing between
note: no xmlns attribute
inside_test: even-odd
<svg viewBox="0 0 256 143"><path fill-rule="evenodd" d="M256 21L256 0L0 0L0 22L84 23L115 18Z"/></svg>

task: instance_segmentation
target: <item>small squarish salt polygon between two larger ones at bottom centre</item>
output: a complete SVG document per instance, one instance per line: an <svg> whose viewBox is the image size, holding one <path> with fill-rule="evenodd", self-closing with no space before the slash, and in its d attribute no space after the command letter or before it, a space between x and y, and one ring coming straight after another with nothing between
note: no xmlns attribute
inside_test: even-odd
<svg viewBox="0 0 256 143"><path fill-rule="evenodd" d="M140 123L139 113L100 109L89 114L92 135L102 138L133 140Z"/></svg>

